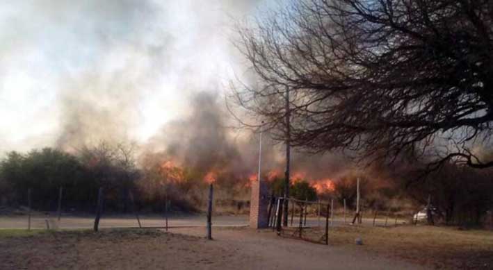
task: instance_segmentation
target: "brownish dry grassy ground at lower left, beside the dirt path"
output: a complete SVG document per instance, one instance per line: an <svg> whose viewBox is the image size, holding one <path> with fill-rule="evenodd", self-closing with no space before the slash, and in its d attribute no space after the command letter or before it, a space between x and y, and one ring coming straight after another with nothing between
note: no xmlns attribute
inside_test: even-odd
<svg viewBox="0 0 493 270"><path fill-rule="evenodd" d="M214 252L234 255L225 249ZM188 269L214 265L218 257L211 256L201 237L113 229L5 234L0 258L0 269Z"/></svg>

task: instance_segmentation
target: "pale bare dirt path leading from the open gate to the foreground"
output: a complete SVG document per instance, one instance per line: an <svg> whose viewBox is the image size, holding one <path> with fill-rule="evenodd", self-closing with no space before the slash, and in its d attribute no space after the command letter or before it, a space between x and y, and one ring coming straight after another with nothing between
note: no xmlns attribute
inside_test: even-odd
<svg viewBox="0 0 493 270"><path fill-rule="evenodd" d="M198 228L177 228L174 233L202 236ZM371 255L355 248L325 246L277 237L271 230L222 228L213 231L211 248L241 253L221 264L226 269L426 269L406 262Z"/></svg>

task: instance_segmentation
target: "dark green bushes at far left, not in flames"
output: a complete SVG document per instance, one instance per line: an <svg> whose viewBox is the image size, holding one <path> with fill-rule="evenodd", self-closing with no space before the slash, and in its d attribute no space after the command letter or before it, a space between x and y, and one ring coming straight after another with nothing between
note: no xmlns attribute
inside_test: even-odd
<svg viewBox="0 0 493 270"><path fill-rule="evenodd" d="M85 211L94 209L97 190L103 187L106 207L126 211L129 191L139 177L131 149L122 144L99 144L77 155L50 148L10 152L0 162L0 198L3 205L26 205L30 188L36 208L54 210L63 187L64 205Z"/></svg>

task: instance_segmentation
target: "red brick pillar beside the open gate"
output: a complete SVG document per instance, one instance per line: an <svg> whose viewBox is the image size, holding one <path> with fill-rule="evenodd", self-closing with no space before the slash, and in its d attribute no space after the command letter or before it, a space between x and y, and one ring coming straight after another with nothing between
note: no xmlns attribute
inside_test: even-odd
<svg viewBox="0 0 493 270"><path fill-rule="evenodd" d="M268 226L268 187L265 181L252 181L250 199L250 227L267 228Z"/></svg>

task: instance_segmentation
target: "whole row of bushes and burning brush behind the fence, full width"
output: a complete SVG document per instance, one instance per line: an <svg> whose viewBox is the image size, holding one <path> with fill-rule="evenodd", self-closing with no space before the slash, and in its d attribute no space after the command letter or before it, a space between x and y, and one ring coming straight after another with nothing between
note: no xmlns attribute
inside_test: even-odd
<svg viewBox="0 0 493 270"><path fill-rule="evenodd" d="M137 167L134 149L124 144L103 143L76 153L50 148L24 154L10 152L0 160L0 205L27 205L31 189L35 210L54 211L59 188L63 187L64 211L92 212L97 191L102 187L104 209L110 212L130 212L134 207L159 212L165 200L172 202L172 210L203 209L208 185L204 171L169 166L166 160L159 154L144 155ZM492 169L445 164L423 177L419 177L418 171L419 165L401 162L392 171L380 169L373 174L378 177L348 173L335 179L334 190L326 194L316 194L306 181L298 180L291 186L291 196L310 201L336 199L339 205L346 201L348 210L354 210L359 177L364 211L418 211L430 199L436 223L490 224ZM248 205L248 179L223 172L215 180L216 203L223 202L223 206L232 209ZM282 196L283 183L282 178L271 183L276 196Z"/></svg>

